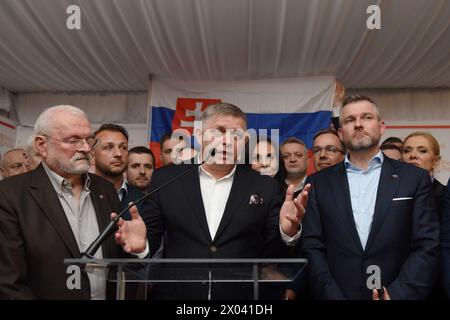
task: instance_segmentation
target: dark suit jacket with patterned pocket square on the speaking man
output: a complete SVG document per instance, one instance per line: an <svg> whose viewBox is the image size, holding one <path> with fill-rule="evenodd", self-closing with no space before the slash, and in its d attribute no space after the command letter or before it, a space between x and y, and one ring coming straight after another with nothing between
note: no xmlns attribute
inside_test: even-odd
<svg viewBox="0 0 450 320"><path fill-rule="evenodd" d="M198 165L180 164L156 170L151 189L186 170L190 171L144 204L142 216L147 225L151 255L159 248L164 231L167 242L164 242L163 255L166 258L275 258L287 254L279 231L281 199L274 179L238 165L225 212L215 238L211 239ZM252 195L258 195L263 203L249 204ZM220 286L213 285L213 299L252 297L251 291L248 295L245 290L227 291L218 289ZM207 284L171 284L165 286L158 298L206 299L207 294Z"/></svg>

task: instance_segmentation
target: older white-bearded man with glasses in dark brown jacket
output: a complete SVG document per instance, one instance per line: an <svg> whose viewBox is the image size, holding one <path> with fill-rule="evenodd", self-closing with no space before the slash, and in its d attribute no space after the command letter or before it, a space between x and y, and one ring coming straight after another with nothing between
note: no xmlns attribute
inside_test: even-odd
<svg viewBox="0 0 450 320"><path fill-rule="evenodd" d="M67 287L66 258L80 258L119 209L114 186L88 173L92 136L85 113L73 106L46 109L35 123L42 164L0 183L0 299L105 299L112 297L103 275L81 273L81 288ZM143 223L132 210L131 232ZM141 229L133 230L133 226ZM127 252L138 253L132 242ZM145 248L145 245L140 245ZM138 250L141 251L141 250ZM123 254L107 239L96 258ZM145 252L144 252L145 254Z"/></svg>

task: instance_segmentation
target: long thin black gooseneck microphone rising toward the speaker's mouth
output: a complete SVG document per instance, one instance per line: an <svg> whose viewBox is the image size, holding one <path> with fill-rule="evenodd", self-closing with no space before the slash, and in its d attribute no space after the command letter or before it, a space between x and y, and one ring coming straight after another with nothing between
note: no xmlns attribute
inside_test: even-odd
<svg viewBox="0 0 450 320"><path fill-rule="evenodd" d="M203 160L200 163L200 166L202 164L204 164L210 157L214 157L216 154L216 149L213 148L211 149L211 152L209 153L207 159ZM119 212L119 214L113 219L111 220L111 222L106 226L105 230L103 230L98 237L89 245L89 247L86 249L86 251L84 253L81 254L82 258L89 258L89 259L94 259L94 254L97 252L98 248L100 248L100 246L103 244L103 242L106 240L106 238L108 238L111 234L114 233L114 231L116 230L116 224L119 221L119 219L124 215L125 212L127 212L128 210L130 210L130 208L134 205L137 205L139 203L141 203L142 201L144 201L145 199L147 199L148 197L154 195L156 192L158 192L159 190L165 188L166 186L168 186L169 184L171 184L172 182L174 182L175 180L180 179L181 177L185 176L186 174L188 174L189 172L191 172L192 170L198 168L198 166L193 166L192 168L187 169L186 171L180 173L179 175L173 177L172 179L170 179L169 181L167 181L166 183L160 185L158 188L156 188L155 190L147 193L146 195L144 195L143 197L141 197L140 199L136 200L135 202L133 202L132 204L128 205L128 207L126 207L125 209L123 209L122 211Z"/></svg>

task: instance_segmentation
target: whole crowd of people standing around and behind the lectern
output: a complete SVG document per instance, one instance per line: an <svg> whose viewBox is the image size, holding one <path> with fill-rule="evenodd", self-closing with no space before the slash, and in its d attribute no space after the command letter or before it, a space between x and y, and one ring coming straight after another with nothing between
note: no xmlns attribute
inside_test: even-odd
<svg viewBox="0 0 450 320"><path fill-rule="evenodd" d="M123 215L95 257L304 257L307 271L268 297L448 298L450 192L434 177L439 143L414 132L380 144L384 131L376 103L349 96L339 128L317 132L308 150L297 137L249 136L245 113L218 103L194 130L197 148L189 137L162 137L155 170L150 149L128 148L123 126L93 131L76 107L46 109L29 146L0 160L0 298L112 298L95 274L68 289L62 261L81 257L116 213L176 177ZM377 288L368 284L374 266ZM154 299L251 293L211 282L151 290Z"/></svg>

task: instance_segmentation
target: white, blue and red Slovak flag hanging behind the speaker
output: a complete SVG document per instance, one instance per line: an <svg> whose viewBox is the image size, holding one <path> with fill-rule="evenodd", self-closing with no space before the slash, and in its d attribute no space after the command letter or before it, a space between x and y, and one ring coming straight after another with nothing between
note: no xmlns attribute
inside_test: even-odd
<svg viewBox="0 0 450 320"><path fill-rule="evenodd" d="M152 81L149 108L150 148L160 166L159 141L170 131L193 133L203 110L217 102L238 106L248 128L279 130L279 141L297 137L308 148L314 134L330 126L336 81L333 77L245 81Z"/></svg>

